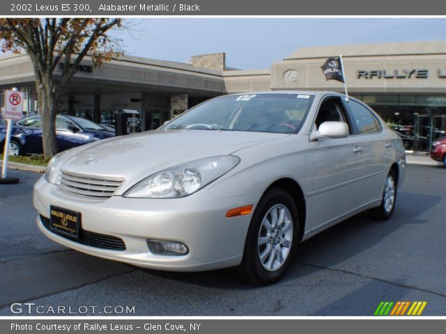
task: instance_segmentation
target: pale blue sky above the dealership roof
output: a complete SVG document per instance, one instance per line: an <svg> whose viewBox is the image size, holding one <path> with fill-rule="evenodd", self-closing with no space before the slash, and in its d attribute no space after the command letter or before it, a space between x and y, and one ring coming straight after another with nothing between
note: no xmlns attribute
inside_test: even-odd
<svg viewBox="0 0 446 334"><path fill-rule="evenodd" d="M300 47L446 40L446 19L147 18L118 33L125 54L185 63L226 52L226 66L269 68Z"/></svg>

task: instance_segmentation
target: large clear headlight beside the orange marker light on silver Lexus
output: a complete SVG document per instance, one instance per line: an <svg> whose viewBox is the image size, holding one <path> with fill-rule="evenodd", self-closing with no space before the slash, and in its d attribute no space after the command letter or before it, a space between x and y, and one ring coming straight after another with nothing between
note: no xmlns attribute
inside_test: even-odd
<svg viewBox="0 0 446 334"><path fill-rule="evenodd" d="M124 197L178 198L188 196L237 166L239 157L224 155L190 161L161 170L130 188Z"/></svg>

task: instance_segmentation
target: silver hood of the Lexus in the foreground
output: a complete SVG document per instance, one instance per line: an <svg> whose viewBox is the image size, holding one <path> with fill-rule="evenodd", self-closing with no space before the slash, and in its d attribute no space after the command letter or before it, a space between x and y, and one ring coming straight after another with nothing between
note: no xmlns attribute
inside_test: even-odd
<svg viewBox="0 0 446 334"><path fill-rule="evenodd" d="M124 177L132 186L144 177L188 161L231 154L289 134L207 130L149 131L68 150L61 169L70 173ZM93 159L93 164L86 161ZM121 190L125 190L121 189Z"/></svg>

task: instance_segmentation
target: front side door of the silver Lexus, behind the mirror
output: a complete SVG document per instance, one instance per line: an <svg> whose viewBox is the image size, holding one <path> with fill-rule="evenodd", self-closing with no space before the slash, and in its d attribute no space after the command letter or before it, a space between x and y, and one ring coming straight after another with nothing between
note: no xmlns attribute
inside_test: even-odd
<svg viewBox="0 0 446 334"><path fill-rule="evenodd" d="M341 121L348 124L346 138L323 138L309 141L312 168L311 230L335 221L362 205L360 152L357 151L351 121L344 102L337 96L322 100L314 120L313 130L323 122Z"/></svg>

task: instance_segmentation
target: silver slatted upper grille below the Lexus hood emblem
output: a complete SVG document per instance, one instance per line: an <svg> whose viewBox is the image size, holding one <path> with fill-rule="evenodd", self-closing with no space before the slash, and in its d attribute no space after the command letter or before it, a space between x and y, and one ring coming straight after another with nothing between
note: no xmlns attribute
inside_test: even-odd
<svg viewBox="0 0 446 334"><path fill-rule="evenodd" d="M100 177L62 172L61 188L83 196L110 198L124 181L120 177Z"/></svg>

